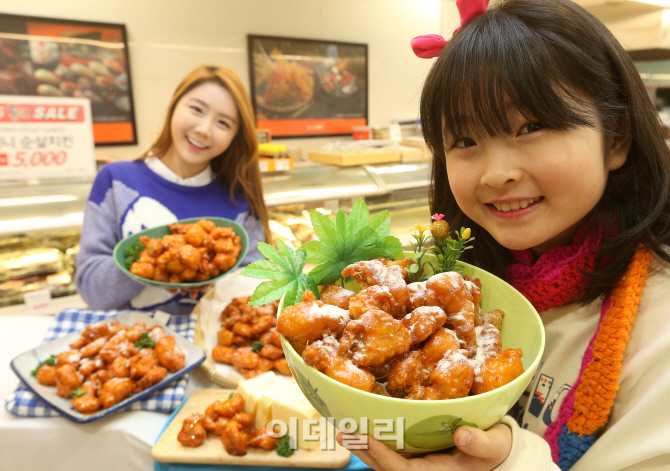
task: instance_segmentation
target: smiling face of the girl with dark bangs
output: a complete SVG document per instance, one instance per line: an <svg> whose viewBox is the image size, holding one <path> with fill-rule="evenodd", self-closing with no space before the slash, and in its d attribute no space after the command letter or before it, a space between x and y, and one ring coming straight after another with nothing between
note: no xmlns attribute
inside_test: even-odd
<svg viewBox="0 0 670 471"><path fill-rule="evenodd" d="M628 146L614 142L605 164L594 129L548 129L518 111L510 123L515 132L501 138L447 138L449 185L461 210L501 245L539 256L572 242Z"/></svg>

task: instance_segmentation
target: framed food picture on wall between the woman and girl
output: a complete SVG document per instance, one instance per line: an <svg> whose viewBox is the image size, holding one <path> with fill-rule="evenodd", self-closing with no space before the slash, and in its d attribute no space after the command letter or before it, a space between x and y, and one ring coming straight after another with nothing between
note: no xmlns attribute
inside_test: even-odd
<svg viewBox="0 0 670 471"><path fill-rule="evenodd" d="M367 44L256 35L247 43L258 128L307 137L367 124Z"/></svg>

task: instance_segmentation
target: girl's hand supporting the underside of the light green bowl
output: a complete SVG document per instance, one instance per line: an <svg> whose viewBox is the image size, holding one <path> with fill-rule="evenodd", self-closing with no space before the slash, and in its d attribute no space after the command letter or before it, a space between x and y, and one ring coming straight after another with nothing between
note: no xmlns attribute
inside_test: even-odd
<svg viewBox="0 0 670 471"><path fill-rule="evenodd" d="M337 434L342 445L345 434ZM367 439L367 450L350 450L376 471L490 471L502 463L512 448L512 431L507 425L494 425L487 431L476 427L459 427L454 433L456 448L448 453L406 458L373 437ZM358 442L360 444L360 441ZM344 446L344 445L343 445Z"/></svg>

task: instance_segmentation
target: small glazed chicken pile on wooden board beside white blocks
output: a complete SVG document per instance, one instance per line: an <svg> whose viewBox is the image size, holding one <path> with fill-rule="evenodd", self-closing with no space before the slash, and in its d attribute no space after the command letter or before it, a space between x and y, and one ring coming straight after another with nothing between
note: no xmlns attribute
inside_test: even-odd
<svg viewBox="0 0 670 471"><path fill-rule="evenodd" d="M244 412L244 399L234 394L225 401L215 401L203 414L193 414L182 424L177 440L184 446L197 447L207 434L219 436L229 455L244 456L248 447L274 450L279 439L272 437L265 427L253 430L254 416Z"/></svg>

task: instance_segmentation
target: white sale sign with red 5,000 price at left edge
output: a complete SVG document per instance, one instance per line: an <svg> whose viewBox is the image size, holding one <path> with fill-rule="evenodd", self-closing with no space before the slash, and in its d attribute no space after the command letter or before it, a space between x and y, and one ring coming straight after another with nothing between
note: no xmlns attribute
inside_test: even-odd
<svg viewBox="0 0 670 471"><path fill-rule="evenodd" d="M0 95L0 180L94 175L88 99Z"/></svg>

